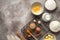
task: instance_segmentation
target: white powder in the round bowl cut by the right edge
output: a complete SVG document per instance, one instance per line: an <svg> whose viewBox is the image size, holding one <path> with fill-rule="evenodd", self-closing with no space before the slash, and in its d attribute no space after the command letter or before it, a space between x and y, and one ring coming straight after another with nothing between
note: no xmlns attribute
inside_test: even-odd
<svg viewBox="0 0 60 40"><path fill-rule="evenodd" d="M60 31L60 22L52 21L49 25L49 28L52 32L59 32Z"/></svg>

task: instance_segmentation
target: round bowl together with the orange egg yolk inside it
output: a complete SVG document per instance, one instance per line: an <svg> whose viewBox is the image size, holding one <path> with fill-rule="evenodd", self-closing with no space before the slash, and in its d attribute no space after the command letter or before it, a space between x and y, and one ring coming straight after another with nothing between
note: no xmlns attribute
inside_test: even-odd
<svg viewBox="0 0 60 40"><path fill-rule="evenodd" d="M34 15L40 15L43 12L43 6L39 2L34 2L32 4L31 11Z"/></svg>

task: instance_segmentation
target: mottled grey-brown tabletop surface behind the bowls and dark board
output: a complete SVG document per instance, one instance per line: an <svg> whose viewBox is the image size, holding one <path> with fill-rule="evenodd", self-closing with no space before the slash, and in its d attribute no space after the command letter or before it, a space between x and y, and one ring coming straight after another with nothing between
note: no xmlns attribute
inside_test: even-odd
<svg viewBox="0 0 60 40"><path fill-rule="evenodd" d="M0 0L0 40L7 40L7 35L16 31L21 32L33 16L31 14L31 4L40 2L43 6L46 0ZM60 21L60 0L55 0L57 9L49 12L53 15L52 20ZM44 10L44 12L48 12ZM59 33L60 34L60 33ZM60 35L57 34L57 40Z"/></svg>

